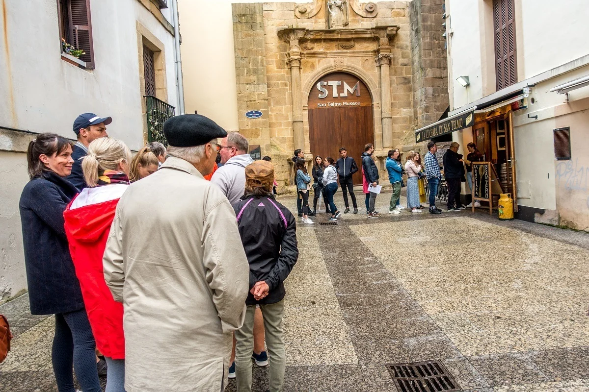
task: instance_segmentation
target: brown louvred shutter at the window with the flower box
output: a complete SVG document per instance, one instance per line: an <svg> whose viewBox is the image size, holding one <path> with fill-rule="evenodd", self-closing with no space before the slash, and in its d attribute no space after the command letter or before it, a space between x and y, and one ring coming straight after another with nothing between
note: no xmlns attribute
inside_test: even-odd
<svg viewBox="0 0 589 392"><path fill-rule="evenodd" d="M94 69L94 45L92 44L92 22L90 18L90 0L70 0L70 33L72 45L86 52L80 60L86 68Z"/></svg>

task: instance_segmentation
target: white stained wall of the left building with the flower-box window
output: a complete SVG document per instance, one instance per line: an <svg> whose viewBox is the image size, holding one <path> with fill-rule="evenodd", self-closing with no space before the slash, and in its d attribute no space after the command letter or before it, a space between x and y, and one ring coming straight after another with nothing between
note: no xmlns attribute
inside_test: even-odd
<svg viewBox="0 0 589 392"><path fill-rule="evenodd" d="M55 0L0 0L0 127L57 132L74 138L84 112L112 116L108 133L134 150L143 146L137 53L139 21L165 46L168 102L177 107L174 39L137 0L92 0L96 69L63 61ZM170 11L163 10L170 20ZM3 20L6 20L4 25ZM8 42L8 45L5 44ZM143 65L141 65L143 66ZM0 148L12 140L2 136ZM18 200L28 181L24 153L0 151L0 301L26 288Z"/></svg>

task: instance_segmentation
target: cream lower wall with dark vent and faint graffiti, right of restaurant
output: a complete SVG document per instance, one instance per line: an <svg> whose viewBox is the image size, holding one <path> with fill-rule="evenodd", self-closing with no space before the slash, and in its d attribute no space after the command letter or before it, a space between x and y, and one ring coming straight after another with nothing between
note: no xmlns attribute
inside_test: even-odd
<svg viewBox="0 0 589 392"><path fill-rule="evenodd" d="M589 87L570 92L569 102L550 89L587 73L589 66L584 66L538 83L528 109L518 110L514 118L517 180L530 181L531 189L531 198L520 198L518 204L558 210L560 224L575 229L589 226ZM571 128L573 159L555 161L553 130L565 126Z"/></svg>

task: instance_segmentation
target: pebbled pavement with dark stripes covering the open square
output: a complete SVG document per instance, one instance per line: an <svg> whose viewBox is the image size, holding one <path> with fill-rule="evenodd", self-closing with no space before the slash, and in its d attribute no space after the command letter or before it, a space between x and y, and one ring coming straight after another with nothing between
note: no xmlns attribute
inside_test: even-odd
<svg viewBox="0 0 589 392"><path fill-rule="evenodd" d="M589 391L589 235L484 211L389 215L389 197L380 219L360 193L357 215L297 228L285 391L392 392L386 363L432 359L464 391ZM16 336L0 391L57 390L53 317L31 316L26 295L0 313ZM254 365L253 390L267 387Z"/></svg>

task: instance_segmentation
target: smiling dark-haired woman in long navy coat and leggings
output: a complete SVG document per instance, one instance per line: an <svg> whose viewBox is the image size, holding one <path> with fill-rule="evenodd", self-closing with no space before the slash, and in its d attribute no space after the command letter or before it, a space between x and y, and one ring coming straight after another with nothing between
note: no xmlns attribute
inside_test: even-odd
<svg viewBox="0 0 589 392"><path fill-rule="evenodd" d="M75 392L72 364L84 392L100 392L95 341L64 230L64 210L78 189L65 177L74 160L68 139L42 133L29 143L31 180L19 209L32 314L55 314L51 362L59 392Z"/></svg>

